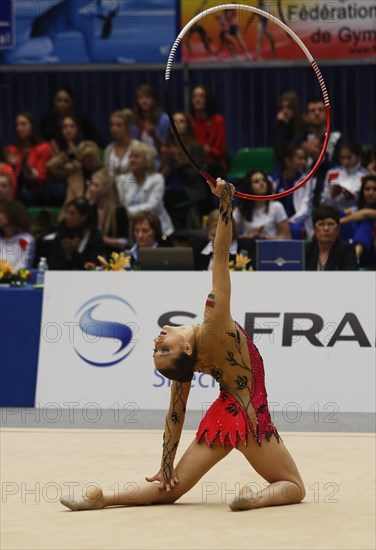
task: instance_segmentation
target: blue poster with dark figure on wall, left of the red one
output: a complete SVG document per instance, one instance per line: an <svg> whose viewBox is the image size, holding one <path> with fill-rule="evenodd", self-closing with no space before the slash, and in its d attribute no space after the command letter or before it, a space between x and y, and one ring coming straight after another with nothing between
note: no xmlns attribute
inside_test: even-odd
<svg viewBox="0 0 376 550"><path fill-rule="evenodd" d="M11 1L5 64L165 63L174 40L175 0Z"/></svg>

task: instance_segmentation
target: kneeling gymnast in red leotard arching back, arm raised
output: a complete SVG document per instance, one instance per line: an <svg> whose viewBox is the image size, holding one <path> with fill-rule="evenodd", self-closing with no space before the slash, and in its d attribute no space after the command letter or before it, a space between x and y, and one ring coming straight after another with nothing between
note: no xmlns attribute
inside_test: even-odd
<svg viewBox="0 0 376 550"><path fill-rule="evenodd" d="M155 339L154 364L160 373L174 380L161 467L156 475L146 478L149 483L140 485L131 496L129 492L105 496L92 488L80 501L63 498L62 504L73 511L114 505L172 504L233 448L243 453L269 485L258 492L245 485L230 504L232 510L293 504L305 496L298 469L271 421L262 359L230 313L228 258L234 186L220 178L216 185L208 183L220 199L220 219L214 241L213 286L206 300L204 322L164 326ZM175 468L193 372L213 376L219 382L220 395Z"/></svg>

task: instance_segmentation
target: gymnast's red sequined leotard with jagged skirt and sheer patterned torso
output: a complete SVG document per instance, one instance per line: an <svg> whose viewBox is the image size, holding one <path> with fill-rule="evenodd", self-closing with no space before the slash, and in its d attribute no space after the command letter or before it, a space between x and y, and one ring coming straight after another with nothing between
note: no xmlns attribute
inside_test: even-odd
<svg viewBox="0 0 376 550"><path fill-rule="evenodd" d="M197 441L204 437L210 446L217 441L236 447L239 439L247 444L248 433L259 445L264 437L269 440L272 435L279 441L280 436L268 409L262 358L245 330L237 323L235 332L227 331L227 335L230 345L227 346L229 349L226 348L225 368L213 365L201 365L200 368L199 365L200 370L211 374L219 382L220 394L200 423ZM246 351L248 357L245 357Z"/></svg>

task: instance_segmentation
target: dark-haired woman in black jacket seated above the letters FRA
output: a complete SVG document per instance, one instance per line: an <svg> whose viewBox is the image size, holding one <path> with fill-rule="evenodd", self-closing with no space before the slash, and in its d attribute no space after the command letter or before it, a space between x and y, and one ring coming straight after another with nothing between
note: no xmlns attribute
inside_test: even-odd
<svg viewBox="0 0 376 550"><path fill-rule="evenodd" d="M312 215L314 238L306 243L306 271L358 269L355 246L340 238L340 215L334 206L322 205Z"/></svg>

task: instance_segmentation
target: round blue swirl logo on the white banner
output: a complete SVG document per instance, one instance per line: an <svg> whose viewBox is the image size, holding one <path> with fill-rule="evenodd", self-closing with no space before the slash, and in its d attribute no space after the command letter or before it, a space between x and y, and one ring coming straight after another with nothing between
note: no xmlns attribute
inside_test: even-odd
<svg viewBox="0 0 376 550"><path fill-rule="evenodd" d="M74 351L94 367L111 367L133 351L138 330L136 312L123 298L101 294L85 302L76 312L80 338Z"/></svg>

